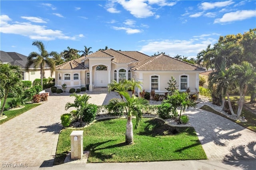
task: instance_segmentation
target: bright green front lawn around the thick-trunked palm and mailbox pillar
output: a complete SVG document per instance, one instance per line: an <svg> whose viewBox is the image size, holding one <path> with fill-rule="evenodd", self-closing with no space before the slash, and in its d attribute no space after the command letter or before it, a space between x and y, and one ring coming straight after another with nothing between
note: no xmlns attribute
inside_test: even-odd
<svg viewBox="0 0 256 170"><path fill-rule="evenodd" d="M133 119L135 125L135 119ZM172 134L178 130L178 134ZM70 151L70 134L59 135L55 164L61 164ZM147 162L170 160L202 160L206 154L193 127L170 127L158 119L143 118L134 130L134 144L125 144L126 119L96 121L84 130L84 150L88 162Z"/></svg>

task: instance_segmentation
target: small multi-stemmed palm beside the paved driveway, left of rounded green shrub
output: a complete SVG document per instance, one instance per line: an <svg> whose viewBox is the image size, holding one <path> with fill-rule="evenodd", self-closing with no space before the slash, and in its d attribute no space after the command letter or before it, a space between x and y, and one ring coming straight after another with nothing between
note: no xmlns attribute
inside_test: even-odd
<svg viewBox="0 0 256 170"><path fill-rule="evenodd" d="M88 106L88 100L91 97L87 94L77 95L76 93L74 93L70 96L75 97L74 103L70 103L70 102L66 103L65 110L68 110L70 107L75 107L78 120L80 122L80 125L82 125L83 113L84 113L86 107Z"/></svg>

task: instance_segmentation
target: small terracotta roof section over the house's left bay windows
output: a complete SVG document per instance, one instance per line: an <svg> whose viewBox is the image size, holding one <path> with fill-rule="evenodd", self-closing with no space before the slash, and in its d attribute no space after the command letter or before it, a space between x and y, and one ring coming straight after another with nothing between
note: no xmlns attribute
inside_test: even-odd
<svg viewBox="0 0 256 170"><path fill-rule="evenodd" d="M74 59L71 61L68 61L66 63L57 65L55 67L56 70L78 70L78 69L88 69L87 67L84 67L84 62L81 62L85 57L80 57L78 59Z"/></svg>

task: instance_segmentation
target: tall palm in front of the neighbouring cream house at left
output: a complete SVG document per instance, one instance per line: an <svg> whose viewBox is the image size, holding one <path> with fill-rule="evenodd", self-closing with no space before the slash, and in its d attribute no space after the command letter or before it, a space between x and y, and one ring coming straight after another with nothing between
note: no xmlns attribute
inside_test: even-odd
<svg viewBox="0 0 256 170"><path fill-rule="evenodd" d="M50 53L48 53L48 51L46 51L45 49L44 43L40 41L34 41L32 45L35 45L36 47L38 47L38 50L40 53L31 52L28 55L28 61L26 63L25 68L26 68L26 71L29 71L29 67L31 65L34 65L34 69L37 69L38 67L40 67L41 86L43 87L44 68L47 64L48 67L50 67L51 74L54 72L55 61L50 57L56 55L56 52L51 51Z"/></svg>

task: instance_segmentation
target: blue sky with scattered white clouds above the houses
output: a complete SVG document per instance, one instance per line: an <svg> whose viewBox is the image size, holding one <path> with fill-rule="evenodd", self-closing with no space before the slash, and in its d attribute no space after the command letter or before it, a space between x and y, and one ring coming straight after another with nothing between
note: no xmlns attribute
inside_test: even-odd
<svg viewBox="0 0 256 170"><path fill-rule="evenodd" d="M69 46L196 57L219 36L256 28L256 1L78 0L0 2L0 49L29 55Z"/></svg>

